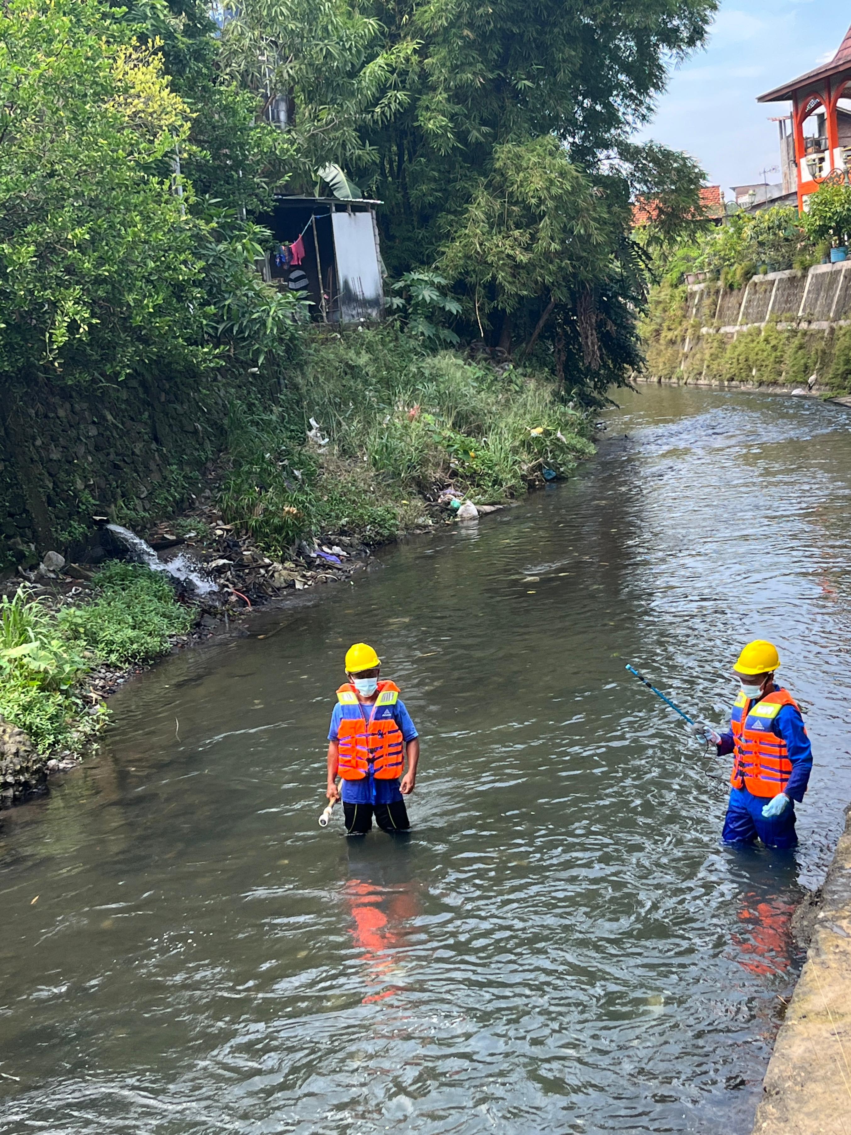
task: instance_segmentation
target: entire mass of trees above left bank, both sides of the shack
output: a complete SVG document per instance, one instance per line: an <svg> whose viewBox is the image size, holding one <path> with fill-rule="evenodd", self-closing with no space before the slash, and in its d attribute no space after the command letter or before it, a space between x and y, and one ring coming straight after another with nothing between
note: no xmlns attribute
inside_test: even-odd
<svg viewBox="0 0 851 1135"><path fill-rule="evenodd" d="M0 381L283 375L297 301L253 272L252 218L342 165L386 202L394 274L439 266L454 286L445 342L536 347L599 394L638 361L629 199L652 193L669 235L699 183L629 133L714 7L246 0L217 31L201 0L11 0Z"/></svg>

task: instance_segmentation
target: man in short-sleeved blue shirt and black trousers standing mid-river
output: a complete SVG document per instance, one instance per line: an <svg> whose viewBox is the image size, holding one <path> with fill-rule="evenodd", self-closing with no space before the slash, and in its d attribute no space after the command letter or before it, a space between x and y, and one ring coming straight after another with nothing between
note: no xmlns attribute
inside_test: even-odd
<svg viewBox="0 0 851 1135"><path fill-rule="evenodd" d="M373 814L384 831L406 831L411 824L403 796L416 783L416 729L398 686L381 681L381 663L371 646L355 642L345 666L347 681L337 690L328 731L328 799L340 799L339 774L349 835L365 835Z"/></svg>

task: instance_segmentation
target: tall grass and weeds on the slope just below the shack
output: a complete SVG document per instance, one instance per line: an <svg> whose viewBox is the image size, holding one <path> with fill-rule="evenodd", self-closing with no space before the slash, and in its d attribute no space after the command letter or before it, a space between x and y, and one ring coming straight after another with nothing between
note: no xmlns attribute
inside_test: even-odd
<svg viewBox="0 0 851 1135"><path fill-rule="evenodd" d="M593 448L548 378L429 354L391 326L317 336L297 381L309 445L275 409L234 405L228 428L222 510L275 556L323 532L393 539L446 487L511 499Z"/></svg>

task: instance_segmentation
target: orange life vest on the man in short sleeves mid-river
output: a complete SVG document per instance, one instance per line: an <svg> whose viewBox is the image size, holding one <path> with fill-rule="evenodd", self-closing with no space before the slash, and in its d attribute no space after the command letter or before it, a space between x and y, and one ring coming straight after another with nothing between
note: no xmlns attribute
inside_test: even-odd
<svg viewBox="0 0 851 1135"><path fill-rule="evenodd" d="M376 780L396 780L405 760L405 739L393 716L399 696L394 682L379 682L378 697L370 704L357 700L353 686L337 690L343 707L337 743L338 771L343 780L363 780L372 765Z"/></svg>

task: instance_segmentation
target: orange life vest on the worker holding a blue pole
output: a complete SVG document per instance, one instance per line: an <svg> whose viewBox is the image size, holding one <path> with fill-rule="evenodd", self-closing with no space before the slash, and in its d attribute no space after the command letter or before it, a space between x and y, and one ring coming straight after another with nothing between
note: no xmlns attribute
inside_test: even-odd
<svg viewBox="0 0 851 1135"><path fill-rule="evenodd" d="M730 728L733 731L733 788L747 788L752 796L776 796L792 774L786 742L772 732L783 706L798 703L789 690L774 690L751 705L743 692L733 705ZM804 730L806 732L806 730Z"/></svg>

